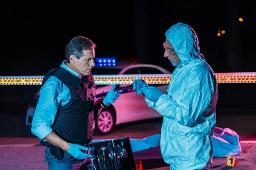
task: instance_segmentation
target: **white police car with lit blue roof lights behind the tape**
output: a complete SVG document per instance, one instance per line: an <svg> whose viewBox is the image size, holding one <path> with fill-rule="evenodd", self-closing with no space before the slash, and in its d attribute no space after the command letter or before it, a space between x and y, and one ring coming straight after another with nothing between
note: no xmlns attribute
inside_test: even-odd
<svg viewBox="0 0 256 170"><path fill-rule="evenodd" d="M113 58L96 58L96 66L92 69L93 75L118 74L171 74L170 71L158 65L141 64L137 62L115 62ZM151 85L152 86L152 85ZM168 84L156 84L163 93L166 93ZM106 96L112 85L96 85L96 99ZM145 119L160 118L162 115L148 107L145 97L137 96L132 84L116 85L115 91L123 89L116 102L103 108L93 125L94 132L100 135L111 133L116 125L136 122Z"/></svg>

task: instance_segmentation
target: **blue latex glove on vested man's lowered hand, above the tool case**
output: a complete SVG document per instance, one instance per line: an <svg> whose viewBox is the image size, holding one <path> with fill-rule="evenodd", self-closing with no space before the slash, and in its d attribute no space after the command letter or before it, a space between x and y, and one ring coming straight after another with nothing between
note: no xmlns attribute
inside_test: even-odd
<svg viewBox="0 0 256 170"><path fill-rule="evenodd" d="M83 153L81 150L88 150L88 147L81 146L79 144L70 144L70 148L67 150L67 153L76 159L86 159L93 157L89 154Z"/></svg>

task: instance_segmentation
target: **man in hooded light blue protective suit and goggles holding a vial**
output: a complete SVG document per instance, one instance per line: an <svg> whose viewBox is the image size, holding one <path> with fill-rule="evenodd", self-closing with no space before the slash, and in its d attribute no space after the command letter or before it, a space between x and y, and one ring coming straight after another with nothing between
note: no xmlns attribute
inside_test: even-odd
<svg viewBox="0 0 256 170"><path fill-rule="evenodd" d="M215 73L200 53L198 37L189 25L177 23L169 28L164 48L164 57L177 66L167 93L139 81L139 92L148 106L163 115L163 159L170 170L209 170L218 100Z"/></svg>

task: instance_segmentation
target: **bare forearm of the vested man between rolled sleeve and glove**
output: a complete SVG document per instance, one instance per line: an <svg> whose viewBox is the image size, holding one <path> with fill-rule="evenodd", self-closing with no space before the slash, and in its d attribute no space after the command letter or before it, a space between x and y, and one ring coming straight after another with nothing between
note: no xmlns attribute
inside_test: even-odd
<svg viewBox="0 0 256 170"><path fill-rule="evenodd" d="M54 131L49 133L49 135L47 135L45 137L45 140L47 140L47 142L49 142L51 144L54 144L55 146L60 147L61 149L65 150L65 151L67 151L70 148L70 143L61 139L61 137L58 136Z"/></svg>

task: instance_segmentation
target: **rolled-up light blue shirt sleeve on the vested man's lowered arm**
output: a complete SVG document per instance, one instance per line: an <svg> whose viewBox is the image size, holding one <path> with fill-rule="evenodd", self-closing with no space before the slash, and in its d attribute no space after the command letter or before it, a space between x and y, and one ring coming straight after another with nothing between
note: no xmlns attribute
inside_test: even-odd
<svg viewBox="0 0 256 170"><path fill-rule="evenodd" d="M50 81L46 82L40 90L40 97L31 127L31 132L40 139L44 139L52 132L51 126L60 103L59 94L60 90Z"/></svg>

